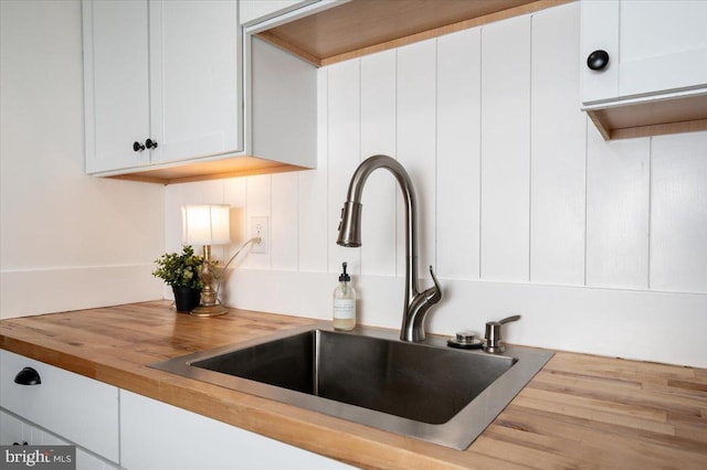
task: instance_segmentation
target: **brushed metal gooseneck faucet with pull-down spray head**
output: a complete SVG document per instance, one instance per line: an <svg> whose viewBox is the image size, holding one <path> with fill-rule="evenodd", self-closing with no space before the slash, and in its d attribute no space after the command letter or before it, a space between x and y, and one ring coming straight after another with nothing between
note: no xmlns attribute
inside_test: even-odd
<svg viewBox="0 0 707 470"><path fill-rule="evenodd" d="M402 341L424 340L424 319L430 307L442 299L442 289L434 277L432 266L430 275L434 286L418 291L418 206L415 191L405 169L395 159L387 156L373 156L366 159L354 172L349 183L349 192L341 210L339 237L337 244L341 246L361 246L361 193L368 177L379 168L390 171L402 190L405 202L405 297L403 306Z"/></svg>

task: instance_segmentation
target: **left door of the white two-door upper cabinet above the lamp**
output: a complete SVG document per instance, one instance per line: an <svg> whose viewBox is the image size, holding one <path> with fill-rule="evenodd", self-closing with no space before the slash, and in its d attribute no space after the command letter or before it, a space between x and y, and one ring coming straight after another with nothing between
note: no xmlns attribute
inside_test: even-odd
<svg viewBox="0 0 707 470"><path fill-rule="evenodd" d="M147 0L85 1L86 171L137 167L149 132Z"/></svg>

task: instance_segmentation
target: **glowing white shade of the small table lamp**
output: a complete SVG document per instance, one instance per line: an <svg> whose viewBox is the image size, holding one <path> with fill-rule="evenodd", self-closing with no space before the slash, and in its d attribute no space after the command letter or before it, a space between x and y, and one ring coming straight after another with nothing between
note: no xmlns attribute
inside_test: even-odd
<svg viewBox="0 0 707 470"><path fill-rule="evenodd" d="M231 243L226 204L182 205L181 239L184 245L228 245Z"/></svg>

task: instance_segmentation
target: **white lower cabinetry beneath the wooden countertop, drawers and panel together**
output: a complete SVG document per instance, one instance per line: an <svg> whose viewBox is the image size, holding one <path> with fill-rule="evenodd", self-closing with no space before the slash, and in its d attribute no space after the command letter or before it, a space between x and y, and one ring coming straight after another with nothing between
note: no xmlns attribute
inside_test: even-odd
<svg viewBox="0 0 707 470"><path fill-rule="evenodd" d="M15 383L25 367L41 383ZM36 382L24 373L19 382ZM289 446L0 350L0 445L75 445L78 470L345 469Z"/></svg>

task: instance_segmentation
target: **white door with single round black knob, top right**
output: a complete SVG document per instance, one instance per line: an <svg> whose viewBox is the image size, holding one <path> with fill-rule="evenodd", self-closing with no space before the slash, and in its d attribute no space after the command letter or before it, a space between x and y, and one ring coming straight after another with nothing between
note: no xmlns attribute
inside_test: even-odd
<svg viewBox="0 0 707 470"><path fill-rule="evenodd" d="M583 1L584 105L646 96L680 96L707 86L707 2ZM587 60L605 51L609 62Z"/></svg>

